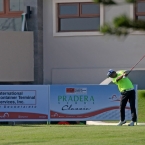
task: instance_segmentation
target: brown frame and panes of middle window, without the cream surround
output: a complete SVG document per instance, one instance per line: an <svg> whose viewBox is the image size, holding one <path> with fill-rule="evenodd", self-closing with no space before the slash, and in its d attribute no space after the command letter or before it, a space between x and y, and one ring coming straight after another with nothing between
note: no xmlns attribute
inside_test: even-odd
<svg viewBox="0 0 145 145"><path fill-rule="evenodd" d="M95 3L58 4L58 31L98 31L100 6Z"/></svg>

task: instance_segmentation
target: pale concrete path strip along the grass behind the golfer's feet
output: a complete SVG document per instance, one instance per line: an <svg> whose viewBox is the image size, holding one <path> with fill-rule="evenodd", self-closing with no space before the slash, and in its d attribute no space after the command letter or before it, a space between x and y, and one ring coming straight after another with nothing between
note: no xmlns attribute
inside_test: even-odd
<svg viewBox="0 0 145 145"><path fill-rule="evenodd" d="M129 124L129 122L127 122L124 125L128 125L128 124ZM117 123L110 123L110 122L108 123L108 122L103 122L103 121L87 121L86 125L114 125L114 126L116 126ZM136 125L136 123L135 123L135 125ZM145 123L137 123L137 125L145 125Z"/></svg>

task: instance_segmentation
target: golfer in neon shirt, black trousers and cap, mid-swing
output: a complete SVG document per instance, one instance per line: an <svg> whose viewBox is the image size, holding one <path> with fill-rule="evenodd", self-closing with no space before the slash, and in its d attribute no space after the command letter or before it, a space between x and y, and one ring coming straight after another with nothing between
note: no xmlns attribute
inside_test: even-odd
<svg viewBox="0 0 145 145"><path fill-rule="evenodd" d="M127 101L129 100L130 108L131 108L131 116L132 121L128 124L128 126L134 126L134 122L137 121L136 108L135 108L135 90L132 82L127 77L127 73L125 71L116 72L110 69L107 73L107 76L112 78L112 82L118 86L118 89L121 93L120 100L120 117L121 120L117 124L117 126L122 126L126 123L125 121L125 107Z"/></svg>

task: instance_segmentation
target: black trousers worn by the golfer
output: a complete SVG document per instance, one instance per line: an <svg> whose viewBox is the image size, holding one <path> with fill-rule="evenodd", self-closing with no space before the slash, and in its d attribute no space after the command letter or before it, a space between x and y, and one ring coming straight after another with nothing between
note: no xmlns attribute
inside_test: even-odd
<svg viewBox="0 0 145 145"><path fill-rule="evenodd" d="M125 107L126 107L127 101L129 101L132 121L136 122L137 116L136 116L136 108L135 108L135 90L125 91L125 92L121 93L121 95L122 95L121 100L120 100L121 121L125 120Z"/></svg>

